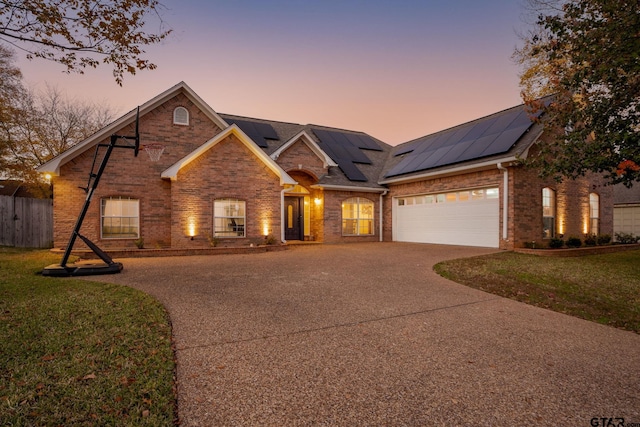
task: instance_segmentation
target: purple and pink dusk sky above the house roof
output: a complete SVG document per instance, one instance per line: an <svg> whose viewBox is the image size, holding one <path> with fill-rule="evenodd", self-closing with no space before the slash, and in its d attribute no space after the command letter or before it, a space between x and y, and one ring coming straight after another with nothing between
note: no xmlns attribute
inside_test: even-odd
<svg viewBox="0 0 640 427"><path fill-rule="evenodd" d="M521 103L519 0L161 0L154 71L85 75L28 61L24 80L117 115L180 81L215 111L369 133L395 145Z"/></svg>

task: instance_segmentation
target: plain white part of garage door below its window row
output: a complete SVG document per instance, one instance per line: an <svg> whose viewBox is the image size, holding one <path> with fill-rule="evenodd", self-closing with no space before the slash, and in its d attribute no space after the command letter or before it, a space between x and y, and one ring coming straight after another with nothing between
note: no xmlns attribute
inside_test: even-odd
<svg viewBox="0 0 640 427"><path fill-rule="evenodd" d="M499 246L499 199L396 206L401 242Z"/></svg>

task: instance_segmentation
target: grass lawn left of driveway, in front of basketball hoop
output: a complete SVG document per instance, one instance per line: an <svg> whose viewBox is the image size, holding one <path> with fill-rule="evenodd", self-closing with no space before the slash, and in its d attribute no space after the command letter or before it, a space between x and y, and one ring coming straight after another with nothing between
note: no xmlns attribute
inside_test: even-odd
<svg viewBox="0 0 640 427"><path fill-rule="evenodd" d="M171 426L171 327L123 286L42 277L47 251L0 248L0 424Z"/></svg>

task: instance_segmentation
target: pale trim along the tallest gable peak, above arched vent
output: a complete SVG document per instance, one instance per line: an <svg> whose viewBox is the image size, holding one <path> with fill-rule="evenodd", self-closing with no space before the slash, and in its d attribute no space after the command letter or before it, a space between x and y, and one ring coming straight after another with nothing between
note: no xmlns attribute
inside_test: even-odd
<svg viewBox="0 0 640 427"><path fill-rule="evenodd" d="M225 122L224 119L222 119L222 117L220 117L215 111L213 111L213 109L206 102L204 102L202 98L200 98L189 86L187 86L185 82L178 83L177 85L162 92L160 95L157 95L156 97L142 104L140 106L140 117L143 117L145 114L154 110L159 105L173 98L180 92L183 92L185 96L189 98L189 100L193 102L196 107L202 110L202 112L204 112L205 115L209 119L211 119L211 121L213 121L220 129L225 129L229 126L228 123ZM79 142L67 151L49 160L45 164L40 165L36 170L40 173L50 173L55 176L60 175L60 167L62 165L75 158L87 148L108 138L123 127L134 123L135 119L136 110L133 109L111 124L103 127L98 132L91 135L89 138Z"/></svg>

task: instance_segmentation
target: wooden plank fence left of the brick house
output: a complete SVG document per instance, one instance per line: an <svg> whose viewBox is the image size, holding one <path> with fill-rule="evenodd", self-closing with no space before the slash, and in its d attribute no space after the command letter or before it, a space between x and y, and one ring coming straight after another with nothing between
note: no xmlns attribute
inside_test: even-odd
<svg viewBox="0 0 640 427"><path fill-rule="evenodd" d="M0 196L0 245L53 247L52 200Z"/></svg>

